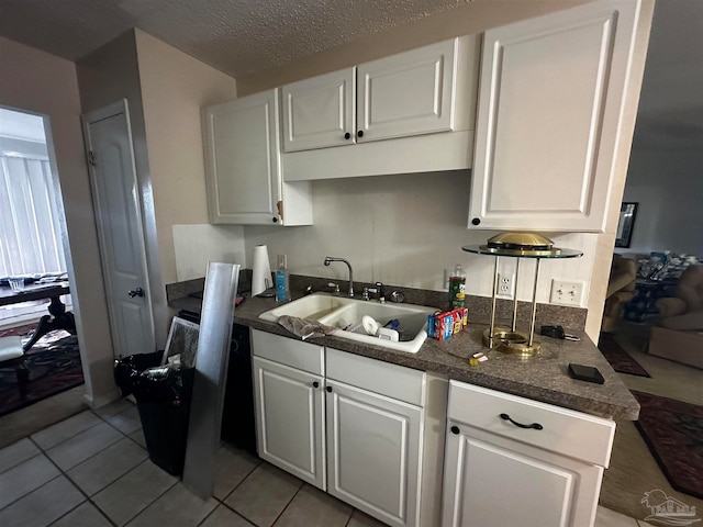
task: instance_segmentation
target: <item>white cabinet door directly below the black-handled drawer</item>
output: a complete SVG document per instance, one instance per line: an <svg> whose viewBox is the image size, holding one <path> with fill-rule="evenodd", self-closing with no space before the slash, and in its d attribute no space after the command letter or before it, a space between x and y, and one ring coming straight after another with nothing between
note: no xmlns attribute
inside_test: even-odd
<svg viewBox="0 0 703 527"><path fill-rule="evenodd" d="M446 527L588 527L603 469L449 422Z"/></svg>

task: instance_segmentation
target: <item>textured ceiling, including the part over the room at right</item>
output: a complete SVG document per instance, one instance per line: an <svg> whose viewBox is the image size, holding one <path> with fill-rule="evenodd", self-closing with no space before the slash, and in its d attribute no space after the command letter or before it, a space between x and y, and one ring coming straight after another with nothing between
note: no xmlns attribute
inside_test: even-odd
<svg viewBox="0 0 703 527"><path fill-rule="evenodd" d="M0 0L0 35L77 60L136 26L243 77L473 1L501 0ZM703 150L702 27L703 0L657 0L636 147Z"/></svg>

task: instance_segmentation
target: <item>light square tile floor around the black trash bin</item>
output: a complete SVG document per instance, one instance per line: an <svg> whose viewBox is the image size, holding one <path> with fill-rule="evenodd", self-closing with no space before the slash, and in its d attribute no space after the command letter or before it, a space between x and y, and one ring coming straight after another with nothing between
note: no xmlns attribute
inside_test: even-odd
<svg viewBox="0 0 703 527"><path fill-rule="evenodd" d="M382 527L230 445L217 457L202 501L148 459L135 405L86 411L0 449L0 526ZM646 525L599 507L596 527Z"/></svg>

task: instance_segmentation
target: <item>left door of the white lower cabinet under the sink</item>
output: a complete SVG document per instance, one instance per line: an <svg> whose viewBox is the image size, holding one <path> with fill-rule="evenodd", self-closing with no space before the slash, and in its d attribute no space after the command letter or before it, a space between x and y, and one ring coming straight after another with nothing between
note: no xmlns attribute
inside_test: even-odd
<svg viewBox="0 0 703 527"><path fill-rule="evenodd" d="M259 456L324 490L322 378L258 357L253 363Z"/></svg>

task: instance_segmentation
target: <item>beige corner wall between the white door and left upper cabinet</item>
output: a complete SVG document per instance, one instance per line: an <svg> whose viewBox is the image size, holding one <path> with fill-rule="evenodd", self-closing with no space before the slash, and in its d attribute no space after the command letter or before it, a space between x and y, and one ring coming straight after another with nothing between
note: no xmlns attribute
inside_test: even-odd
<svg viewBox="0 0 703 527"><path fill-rule="evenodd" d="M203 232L216 237L212 226L203 225L208 215L200 109L233 99L236 82L136 29L79 60L78 78L83 112L122 98L129 101L161 348L170 324L164 284L178 280L172 226L192 223L201 225L201 237ZM192 240L193 231L178 233L181 245Z"/></svg>

